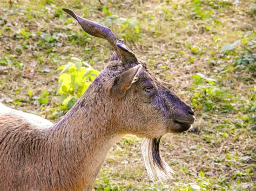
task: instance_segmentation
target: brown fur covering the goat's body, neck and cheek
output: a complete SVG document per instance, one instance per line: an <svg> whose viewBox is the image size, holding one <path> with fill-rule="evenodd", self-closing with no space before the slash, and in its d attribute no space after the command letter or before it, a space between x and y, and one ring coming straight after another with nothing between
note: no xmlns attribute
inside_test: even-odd
<svg viewBox="0 0 256 191"><path fill-rule="evenodd" d="M135 96L139 84L132 85L122 98L111 94L115 76L124 70L120 62L110 63L51 128L39 129L14 115L0 116L0 187L91 189L107 151L122 135L153 138L175 131L166 125L161 112L140 103L143 97ZM139 79L152 80L143 70Z"/></svg>

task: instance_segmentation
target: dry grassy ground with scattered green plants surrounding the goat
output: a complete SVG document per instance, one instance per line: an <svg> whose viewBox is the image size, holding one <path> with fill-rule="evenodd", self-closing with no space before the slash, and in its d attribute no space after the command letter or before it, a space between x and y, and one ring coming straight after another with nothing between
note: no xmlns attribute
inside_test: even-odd
<svg viewBox="0 0 256 191"><path fill-rule="evenodd" d="M96 190L256 189L255 2L10 0L0 5L0 102L9 107L58 121L109 61L110 45L86 34L62 8L111 27L193 106L194 128L161 142L161 153L176 172L170 181L149 179L139 152L142 138L126 136L107 155Z"/></svg>

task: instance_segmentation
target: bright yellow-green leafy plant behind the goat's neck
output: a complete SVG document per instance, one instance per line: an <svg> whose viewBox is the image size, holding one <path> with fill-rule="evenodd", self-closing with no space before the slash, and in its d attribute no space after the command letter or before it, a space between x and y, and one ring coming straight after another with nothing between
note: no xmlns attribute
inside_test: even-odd
<svg viewBox="0 0 256 191"><path fill-rule="evenodd" d="M59 76L58 94L60 94L60 102L64 109L70 109L81 97L90 83L99 74L88 63L71 58L67 65L60 66L58 70L62 70Z"/></svg>

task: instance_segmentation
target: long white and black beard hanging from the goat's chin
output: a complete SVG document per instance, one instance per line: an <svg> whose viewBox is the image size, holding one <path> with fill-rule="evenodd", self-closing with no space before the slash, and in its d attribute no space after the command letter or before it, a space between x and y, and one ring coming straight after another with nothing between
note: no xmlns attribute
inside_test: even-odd
<svg viewBox="0 0 256 191"><path fill-rule="evenodd" d="M172 168L160 156L159 138L145 138L142 143L142 157L152 181L164 182L172 177Z"/></svg>

